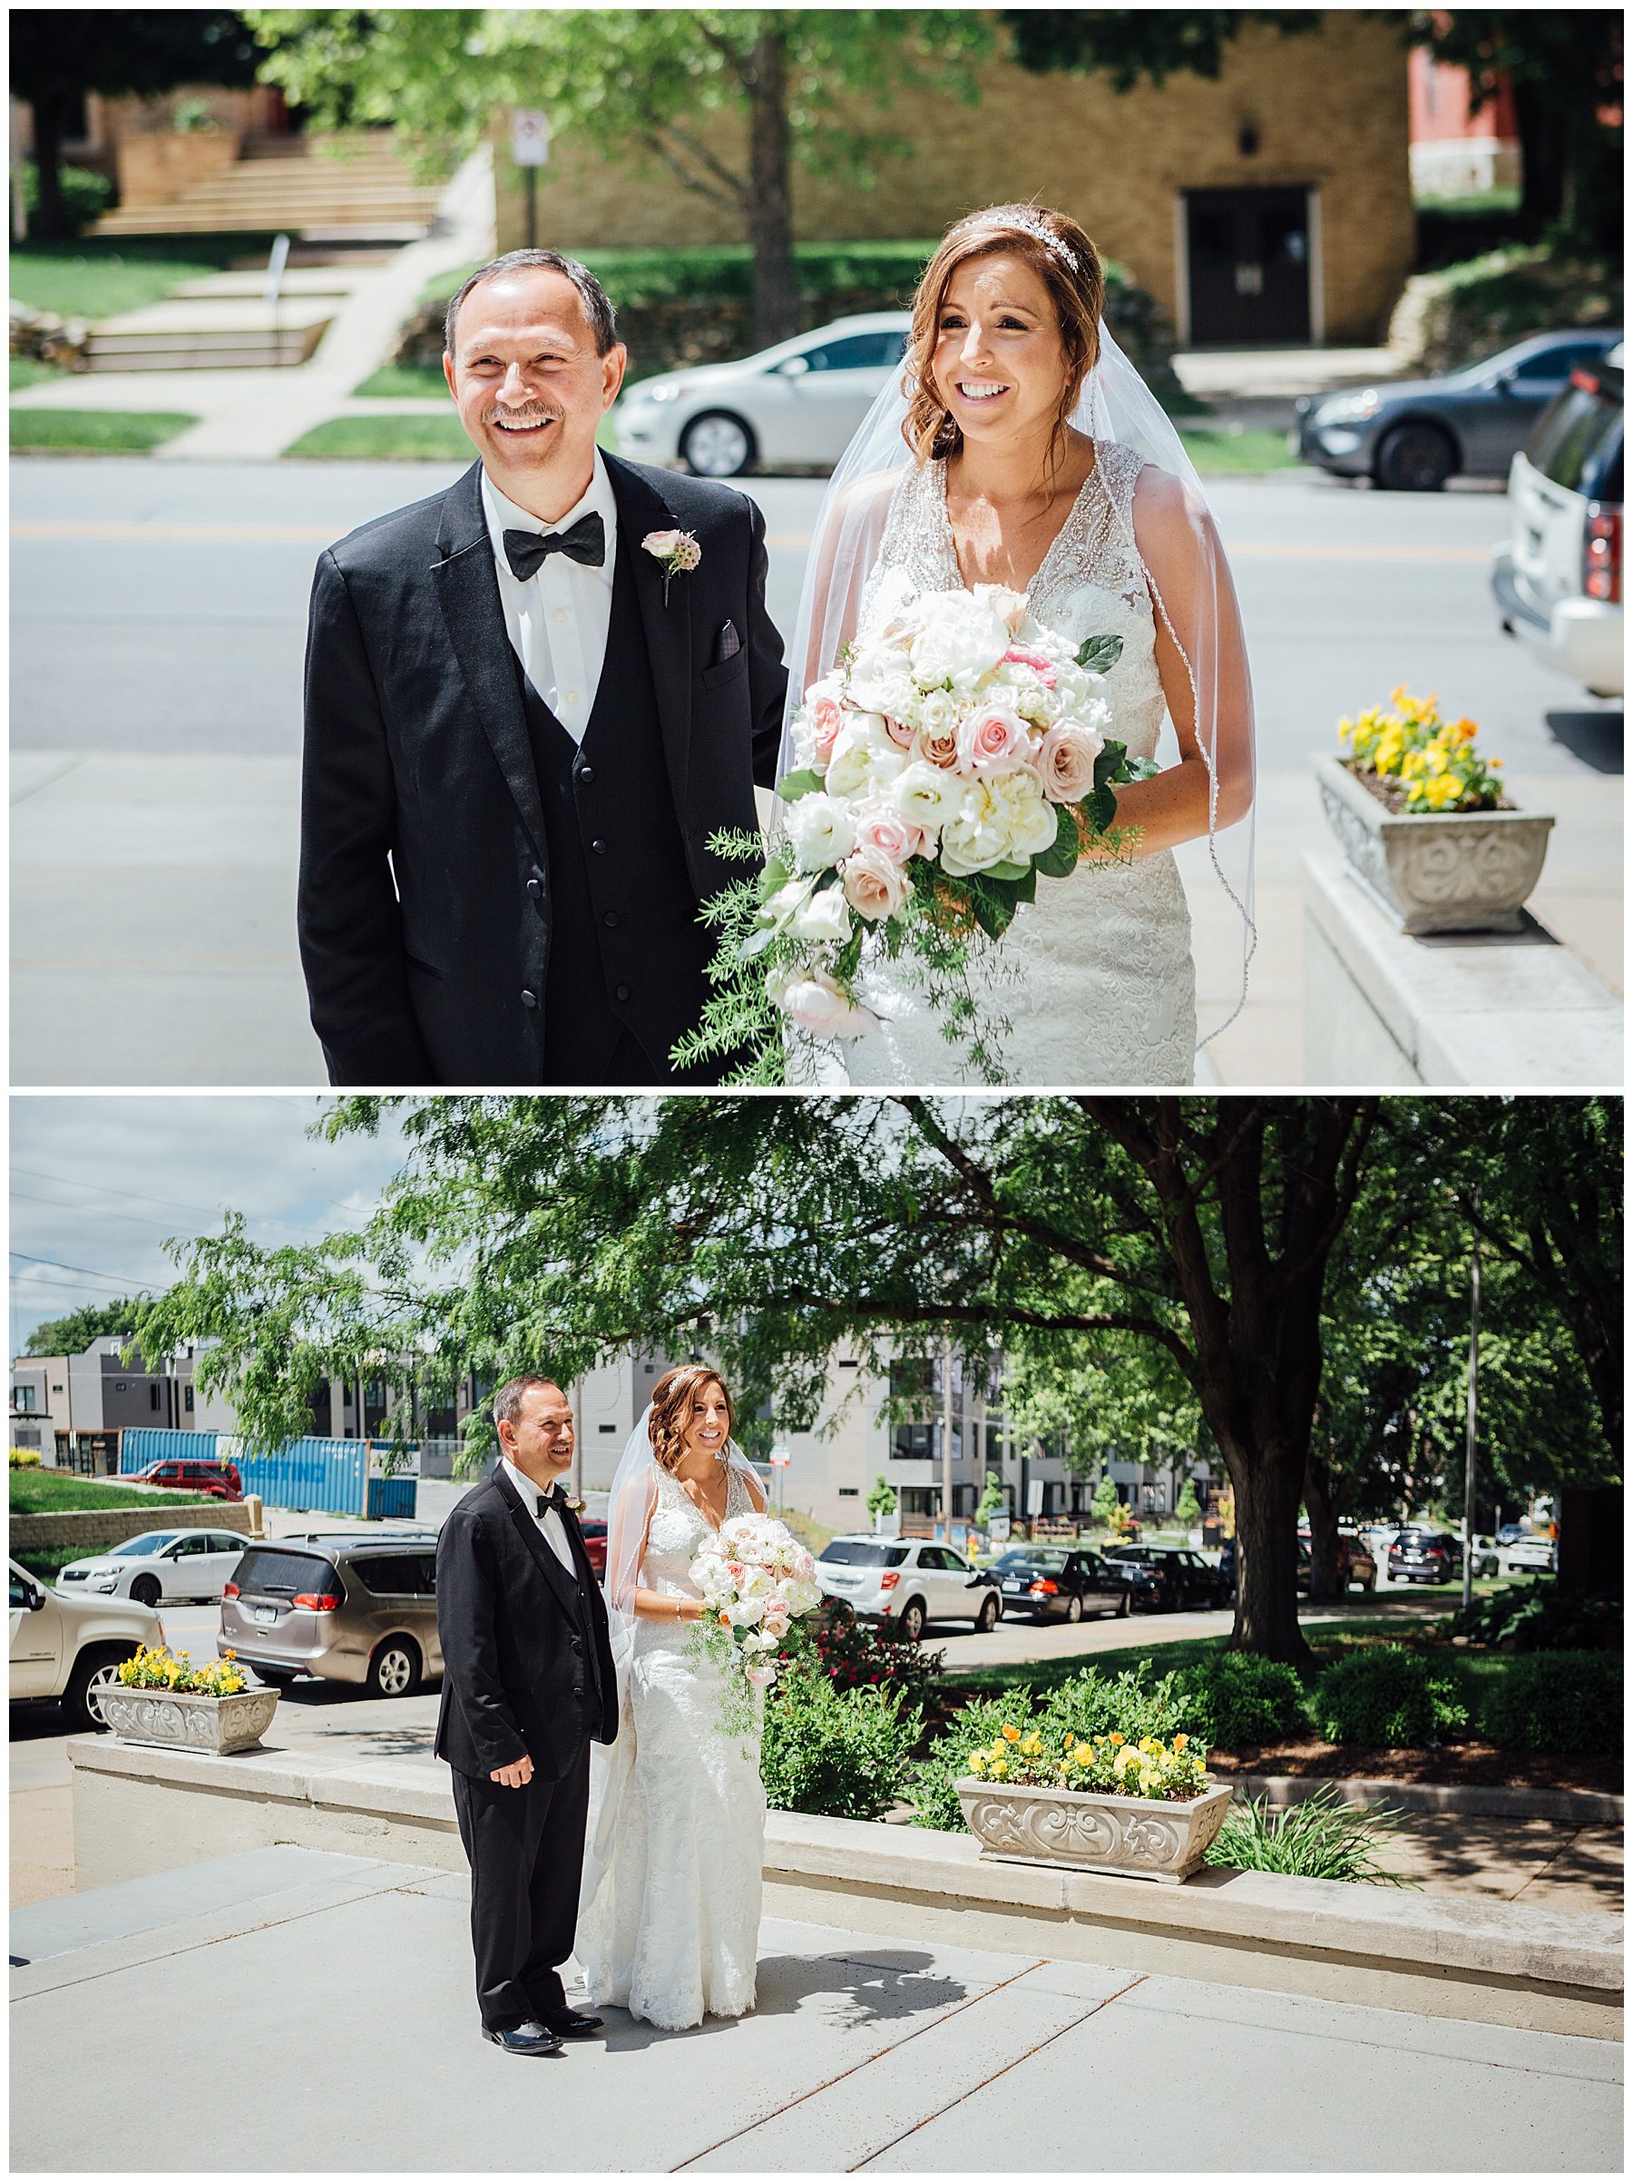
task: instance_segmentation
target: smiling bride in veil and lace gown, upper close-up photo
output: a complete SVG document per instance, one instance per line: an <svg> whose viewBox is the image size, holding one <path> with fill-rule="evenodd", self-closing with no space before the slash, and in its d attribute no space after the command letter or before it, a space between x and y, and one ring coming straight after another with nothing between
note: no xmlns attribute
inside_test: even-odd
<svg viewBox="0 0 1633 2182"><path fill-rule="evenodd" d="M1251 690L1201 484L1101 303L1099 253L1062 212L996 205L948 229L914 299L900 384L874 404L818 519L789 718L846 644L927 591L1005 585L1073 642L1121 637L1103 690L1110 735L1129 757L1156 757L1166 716L1177 762L1116 792L1116 825L1138 827L1134 862L1081 862L1040 884L999 947L972 949L972 982L1009 1032L1005 1082L1188 1084L1197 980L1173 851L1208 842L1223 895L1206 899L1241 921L1245 997L1249 827L1232 877L1217 834L1251 807ZM794 764L785 731L783 770ZM844 1080L968 1080L876 949L857 995L883 1030L844 1047ZM837 1080L831 1065L822 1080Z"/></svg>

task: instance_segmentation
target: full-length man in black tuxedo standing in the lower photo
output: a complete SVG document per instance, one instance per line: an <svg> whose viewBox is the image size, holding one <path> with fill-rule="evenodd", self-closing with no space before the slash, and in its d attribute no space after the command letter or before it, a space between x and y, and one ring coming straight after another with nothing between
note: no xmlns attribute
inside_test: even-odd
<svg viewBox="0 0 1633 2182"><path fill-rule="evenodd" d="M560 1479L573 1412L536 1372L493 1396L501 1462L436 1543L443 1709L436 1754L471 1859L482 2036L558 2053L600 2016L567 2005L589 1815L589 1746L617 1737L606 1604Z"/></svg>

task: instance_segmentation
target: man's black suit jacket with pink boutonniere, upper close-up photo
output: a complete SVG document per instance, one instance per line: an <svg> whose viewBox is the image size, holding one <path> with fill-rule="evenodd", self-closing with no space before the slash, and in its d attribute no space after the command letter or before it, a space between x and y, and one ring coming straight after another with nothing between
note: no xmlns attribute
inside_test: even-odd
<svg viewBox="0 0 1633 2182"><path fill-rule="evenodd" d="M606 456L634 548L667 788L698 901L741 877L776 777L787 670L765 613L765 517L724 484ZM549 860L482 465L318 559L305 652L301 962L336 1084L541 1082ZM663 598L652 530L698 567ZM741 650L717 659L733 622Z"/></svg>

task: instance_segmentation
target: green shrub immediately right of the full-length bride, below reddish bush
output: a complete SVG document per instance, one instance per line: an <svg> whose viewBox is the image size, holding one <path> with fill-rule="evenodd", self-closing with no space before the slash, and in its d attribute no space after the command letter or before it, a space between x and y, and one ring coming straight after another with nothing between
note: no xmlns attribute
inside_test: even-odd
<svg viewBox="0 0 1633 2182"><path fill-rule="evenodd" d="M761 1781L774 1811L879 1818L903 1794L924 1715L890 1689L837 1691L794 1665L765 1706Z"/></svg>

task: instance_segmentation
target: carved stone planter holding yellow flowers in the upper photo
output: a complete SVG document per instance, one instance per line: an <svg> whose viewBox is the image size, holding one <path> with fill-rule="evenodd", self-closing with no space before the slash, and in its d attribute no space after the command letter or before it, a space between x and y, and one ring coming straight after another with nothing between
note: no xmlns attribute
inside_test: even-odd
<svg viewBox="0 0 1633 2182"><path fill-rule="evenodd" d="M1352 875L1402 932L1520 932L1552 818L1535 812L1422 812L1393 818L1339 764L1315 762L1328 825Z"/></svg>

